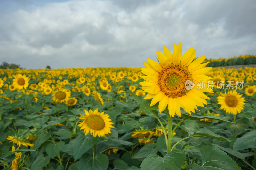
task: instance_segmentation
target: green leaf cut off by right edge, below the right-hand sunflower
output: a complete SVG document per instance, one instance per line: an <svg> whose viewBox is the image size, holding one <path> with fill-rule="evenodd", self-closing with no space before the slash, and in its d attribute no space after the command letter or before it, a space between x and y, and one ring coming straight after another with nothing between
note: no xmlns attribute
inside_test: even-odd
<svg viewBox="0 0 256 170"><path fill-rule="evenodd" d="M234 151L248 148L256 148L256 130L247 132L242 137L237 138L233 145Z"/></svg>

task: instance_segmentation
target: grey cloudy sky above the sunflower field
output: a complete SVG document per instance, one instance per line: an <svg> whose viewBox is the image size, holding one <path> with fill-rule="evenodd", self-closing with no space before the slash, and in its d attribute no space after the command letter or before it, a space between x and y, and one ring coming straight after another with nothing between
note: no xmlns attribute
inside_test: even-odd
<svg viewBox="0 0 256 170"><path fill-rule="evenodd" d="M0 62L27 69L144 67L156 50L256 54L255 0L0 0Z"/></svg>

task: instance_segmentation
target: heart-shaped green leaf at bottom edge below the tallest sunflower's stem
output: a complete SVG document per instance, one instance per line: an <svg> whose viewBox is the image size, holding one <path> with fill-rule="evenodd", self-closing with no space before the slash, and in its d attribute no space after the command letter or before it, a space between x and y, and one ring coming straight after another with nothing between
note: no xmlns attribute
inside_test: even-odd
<svg viewBox="0 0 256 170"><path fill-rule="evenodd" d="M142 161L140 167L142 170L179 170L185 159L185 152L180 150L171 151L164 157L151 154Z"/></svg>

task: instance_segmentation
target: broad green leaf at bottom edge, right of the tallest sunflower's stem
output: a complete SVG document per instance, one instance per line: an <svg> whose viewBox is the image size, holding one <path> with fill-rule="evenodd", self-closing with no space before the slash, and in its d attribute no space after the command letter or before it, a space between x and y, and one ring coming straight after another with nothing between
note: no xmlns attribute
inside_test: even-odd
<svg viewBox="0 0 256 170"><path fill-rule="evenodd" d="M192 164L194 170L241 170L230 156L215 146L201 147L202 165Z"/></svg>

